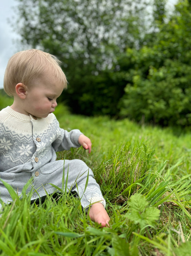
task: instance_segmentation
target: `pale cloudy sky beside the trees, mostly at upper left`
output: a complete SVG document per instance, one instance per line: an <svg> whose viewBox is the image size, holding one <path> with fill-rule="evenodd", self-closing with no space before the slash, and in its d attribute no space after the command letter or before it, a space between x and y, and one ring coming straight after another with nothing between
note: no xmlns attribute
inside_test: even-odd
<svg viewBox="0 0 191 256"><path fill-rule="evenodd" d="M177 0L168 0L168 8L171 9ZM21 50L18 40L19 35L13 31L8 19L15 15L16 0L0 0L0 89L3 88L3 77L9 58Z"/></svg>

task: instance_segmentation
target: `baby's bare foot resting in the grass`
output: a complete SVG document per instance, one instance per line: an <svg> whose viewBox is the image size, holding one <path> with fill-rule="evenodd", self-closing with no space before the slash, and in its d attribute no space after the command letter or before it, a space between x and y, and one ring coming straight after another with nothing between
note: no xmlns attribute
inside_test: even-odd
<svg viewBox="0 0 191 256"><path fill-rule="evenodd" d="M109 216L101 203L92 204L89 210L89 217L92 221L101 224L101 227L109 227Z"/></svg>

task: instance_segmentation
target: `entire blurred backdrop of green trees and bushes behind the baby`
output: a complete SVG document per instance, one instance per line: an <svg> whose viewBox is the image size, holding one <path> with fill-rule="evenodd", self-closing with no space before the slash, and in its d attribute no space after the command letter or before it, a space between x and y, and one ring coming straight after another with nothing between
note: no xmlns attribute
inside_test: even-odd
<svg viewBox="0 0 191 256"><path fill-rule="evenodd" d="M159 0L17 1L22 43L62 61L72 112L190 126L190 1L171 16Z"/></svg>

